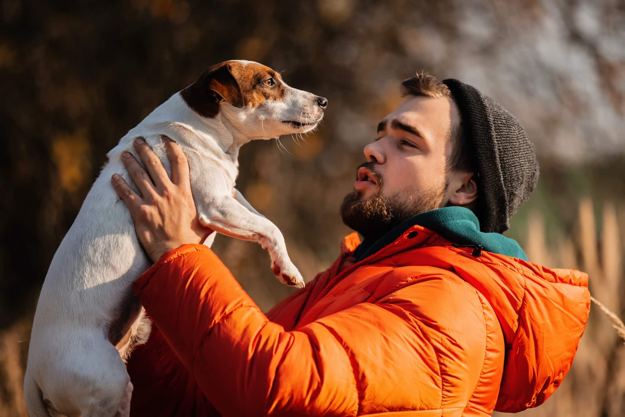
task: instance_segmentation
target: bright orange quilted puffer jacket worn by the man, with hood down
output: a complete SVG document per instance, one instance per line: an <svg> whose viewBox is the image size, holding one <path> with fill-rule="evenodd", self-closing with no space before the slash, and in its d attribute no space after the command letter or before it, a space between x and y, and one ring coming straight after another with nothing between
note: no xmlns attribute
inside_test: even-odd
<svg viewBox="0 0 625 417"><path fill-rule="evenodd" d="M134 283L154 328L128 364L132 414L490 416L541 404L571 368L586 274L421 226L354 263L358 244L268 314L211 249L164 254Z"/></svg>

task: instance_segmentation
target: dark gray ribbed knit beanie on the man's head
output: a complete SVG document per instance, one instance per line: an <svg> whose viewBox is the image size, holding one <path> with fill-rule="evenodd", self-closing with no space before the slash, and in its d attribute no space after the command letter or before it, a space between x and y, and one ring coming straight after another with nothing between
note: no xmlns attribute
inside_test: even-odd
<svg viewBox="0 0 625 417"><path fill-rule="evenodd" d="M503 233L536 187L539 169L534 146L521 123L501 104L457 79L442 83L460 109L464 137L473 151L480 228Z"/></svg>

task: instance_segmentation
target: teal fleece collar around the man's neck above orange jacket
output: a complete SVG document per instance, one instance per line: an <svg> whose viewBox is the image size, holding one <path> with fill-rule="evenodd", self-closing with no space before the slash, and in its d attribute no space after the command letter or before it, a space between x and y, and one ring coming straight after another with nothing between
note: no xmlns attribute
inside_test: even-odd
<svg viewBox="0 0 625 417"><path fill-rule="evenodd" d="M484 233L473 212L464 207L451 206L416 214L384 234L377 241L367 239L356 248L356 261L367 258L393 243L408 228L414 225L435 231L443 238L458 245L480 245L487 252L498 253L527 261L527 255L514 239L499 233Z"/></svg>

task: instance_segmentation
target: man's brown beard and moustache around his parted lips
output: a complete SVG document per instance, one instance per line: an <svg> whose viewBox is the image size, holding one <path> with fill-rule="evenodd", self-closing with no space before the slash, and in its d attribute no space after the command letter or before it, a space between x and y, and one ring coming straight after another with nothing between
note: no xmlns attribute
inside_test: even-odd
<svg viewBox="0 0 625 417"><path fill-rule="evenodd" d="M366 166L374 174L378 186L377 194L363 200L362 192L356 190L347 194L341 203L343 223L362 234L365 239L377 240L415 214L441 207L447 192L447 183L419 194L384 197L381 191L382 178L374 171L374 165L366 163L361 166Z"/></svg>

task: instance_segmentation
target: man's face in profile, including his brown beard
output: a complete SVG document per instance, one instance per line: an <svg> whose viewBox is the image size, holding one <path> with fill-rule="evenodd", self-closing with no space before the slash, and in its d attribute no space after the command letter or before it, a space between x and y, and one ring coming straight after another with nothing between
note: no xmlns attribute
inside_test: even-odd
<svg viewBox="0 0 625 417"><path fill-rule="evenodd" d="M449 131L460 120L447 98L411 96L386 116L364 147L354 191L341 204L343 222L377 239L402 221L449 203Z"/></svg>

